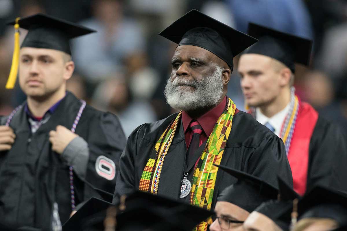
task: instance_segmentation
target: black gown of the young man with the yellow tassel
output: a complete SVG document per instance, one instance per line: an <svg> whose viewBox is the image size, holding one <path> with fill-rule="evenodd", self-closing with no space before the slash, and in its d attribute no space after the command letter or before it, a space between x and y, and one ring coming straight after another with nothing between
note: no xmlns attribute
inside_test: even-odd
<svg viewBox="0 0 347 231"><path fill-rule="evenodd" d="M24 105L24 104L23 104ZM0 220L16 226L48 230L53 202L58 203L62 224L71 213L69 167L60 154L53 152L49 131L57 125L70 129L81 102L70 92L48 122L31 134L24 107L12 119L16 134L11 150L0 153ZM1 119L4 125L6 117ZM116 178L107 180L96 172L95 161L103 155L118 168L126 139L118 118L86 106L76 128L89 147L86 180L95 187L114 191ZM76 205L99 195L74 174Z"/></svg>

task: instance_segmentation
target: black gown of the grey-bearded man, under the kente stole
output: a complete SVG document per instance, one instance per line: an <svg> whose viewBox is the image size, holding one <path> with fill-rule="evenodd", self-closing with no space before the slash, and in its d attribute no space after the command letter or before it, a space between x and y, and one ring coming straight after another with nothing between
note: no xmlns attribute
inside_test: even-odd
<svg viewBox="0 0 347 231"><path fill-rule="evenodd" d="M142 171L151 156L153 146L176 116L177 114L173 114L161 121L143 124L129 136L126 148L120 157L113 203L118 202L120 195L138 189ZM186 169L190 169L189 180L192 179L195 161L200 158L203 148L204 144L196 151L193 160L188 163ZM158 195L179 199L185 155L186 143L181 122L162 166ZM279 175L293 187L291 170L282 140L251 115L242 111L234 115L220 164L253 174L274 185L277 185L277 175ZM212 209L218 194L235 182L236 179L229 174L220 170L217 172ZM189 195L183 200L189 203Z"/></svg>

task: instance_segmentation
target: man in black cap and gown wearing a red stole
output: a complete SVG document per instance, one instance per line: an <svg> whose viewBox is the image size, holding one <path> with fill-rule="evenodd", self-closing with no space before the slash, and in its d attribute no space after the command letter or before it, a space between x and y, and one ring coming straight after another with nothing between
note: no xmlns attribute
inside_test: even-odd
<svg viewBox="0 0 347 231"><path fill-rule="evenodd" d="M303 195L316 184L347 190L346 137L293 87L295 63L309 64L312 41L252 23L248 33L259 42L239 60L245 102L285 143L295 191Z"/></svg>

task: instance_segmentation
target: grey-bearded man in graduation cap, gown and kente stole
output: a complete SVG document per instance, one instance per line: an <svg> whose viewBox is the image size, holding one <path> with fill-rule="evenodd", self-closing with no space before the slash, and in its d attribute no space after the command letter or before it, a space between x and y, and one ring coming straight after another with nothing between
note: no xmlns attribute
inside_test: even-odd
<svg viewBox="0 0 347 231"><path fill-rule="evenodd" d="M160 35L179 44L165 95L181 111L129 136L113 202L140 189L211 210L218 194L236 182L213 164L275 185L280 174L291 185L283 142L226 97L233 56L256 40L197 10ZM196 229L206 230L207 223Z"/></svg>

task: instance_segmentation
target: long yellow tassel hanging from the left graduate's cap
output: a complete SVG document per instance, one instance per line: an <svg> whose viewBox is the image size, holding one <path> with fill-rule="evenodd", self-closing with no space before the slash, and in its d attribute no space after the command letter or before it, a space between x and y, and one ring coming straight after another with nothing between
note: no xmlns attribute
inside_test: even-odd
<svg viewBox="0 0 347 231"><path fill-rule="evenodd" d="M10 75L8 77L7 83L6 83L6 89L12 89L15 87L16 79L17 79L17 73L18 73L18 64L19 64L19 21L20 18L16 18L16 24L15 24L15 47L13 50L13 56L12 56L12 65L11 65L11 71Z"/></svg>

